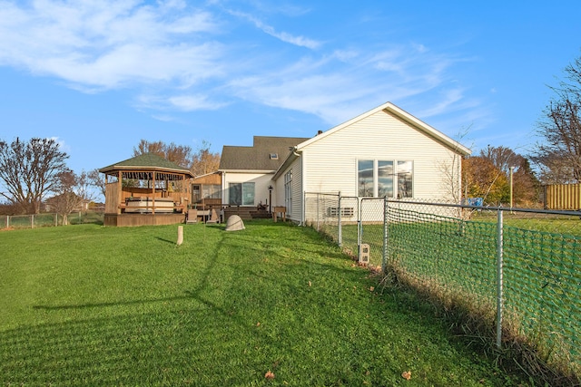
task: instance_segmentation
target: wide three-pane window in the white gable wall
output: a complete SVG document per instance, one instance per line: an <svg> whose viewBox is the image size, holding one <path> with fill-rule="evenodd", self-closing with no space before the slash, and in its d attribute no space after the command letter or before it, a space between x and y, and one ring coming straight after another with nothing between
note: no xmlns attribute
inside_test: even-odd
<svg viewBox="0 0 581 387"><path fill-rule="evenodd" d="M383 198L386 196L388 198L396 196L398 198L411 198L413 196L412 161L395 163L392 160L359 160L357 168L358 196L360 198Z"/></svg>

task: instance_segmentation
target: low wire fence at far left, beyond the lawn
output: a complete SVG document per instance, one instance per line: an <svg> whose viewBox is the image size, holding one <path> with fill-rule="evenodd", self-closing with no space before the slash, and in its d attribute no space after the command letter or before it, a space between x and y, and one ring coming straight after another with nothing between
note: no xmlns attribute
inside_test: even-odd
<svg viewBox="0 0 581 387"><path fill-rule="evenodd" d="M71 225L82 223L103 224L103 212L73 212L68 215ZM34 215L0 215L0 229L63 226L64 218L54 213Z"/></svg>

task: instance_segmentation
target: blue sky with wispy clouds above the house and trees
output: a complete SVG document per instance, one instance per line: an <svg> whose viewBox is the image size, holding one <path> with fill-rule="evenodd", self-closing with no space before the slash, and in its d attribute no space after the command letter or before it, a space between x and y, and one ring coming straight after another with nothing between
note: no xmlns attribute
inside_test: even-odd
<svg viewBox="0 0 581 387"><path fill-rule="evenodd" d="M393 102L474 153L526 154L581 2L0 0L0 139L77 172L140 140L310 137Z"/></svg>

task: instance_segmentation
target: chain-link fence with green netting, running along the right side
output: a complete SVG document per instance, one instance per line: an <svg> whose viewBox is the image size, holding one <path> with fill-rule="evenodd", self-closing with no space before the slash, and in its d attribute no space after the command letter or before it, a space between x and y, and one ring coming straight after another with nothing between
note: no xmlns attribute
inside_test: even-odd
<svg viewBox="0 0 581 387"><path fill-rule="evenodd" d="M581 375L581 213L306 198L307 225L355 256L369 245L371 265L445 300L478 307L496 325L498 346L507 334L525 338L549 363ZM339 217L330 206L357 211Z"/></svg>

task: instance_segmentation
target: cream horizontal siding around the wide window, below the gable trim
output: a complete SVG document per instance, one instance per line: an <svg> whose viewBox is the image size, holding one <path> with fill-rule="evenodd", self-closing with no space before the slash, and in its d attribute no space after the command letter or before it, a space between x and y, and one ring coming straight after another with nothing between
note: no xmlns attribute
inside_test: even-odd
<svg viewBox="0 0 581 387"><path fill-rule="evenodd" d="M303 189L357 196L358 160L412 160L414 198L450 198L442 169L454 157L422 131L379 111L305 147Z"/></svg>

